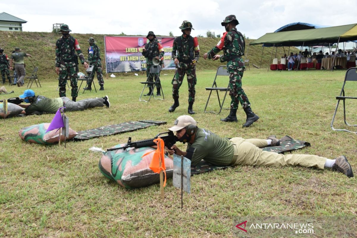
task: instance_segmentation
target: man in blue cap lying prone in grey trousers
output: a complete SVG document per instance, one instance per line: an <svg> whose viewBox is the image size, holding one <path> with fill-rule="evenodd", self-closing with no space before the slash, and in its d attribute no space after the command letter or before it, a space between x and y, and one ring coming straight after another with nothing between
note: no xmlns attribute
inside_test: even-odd
<svg viewBox="0 0 357 238"><path fill-rule="evenodd" d="M25 108L22 114L56 113L59 107L66 107L65 111L82 111L90 107L102 107L105 105L109 108L110 106L108 96L74 102L68 97L51 99L41 95L36 96L33 90L27 89L19 97L25 99L26 103L30 103L19 105Z"/></svg>

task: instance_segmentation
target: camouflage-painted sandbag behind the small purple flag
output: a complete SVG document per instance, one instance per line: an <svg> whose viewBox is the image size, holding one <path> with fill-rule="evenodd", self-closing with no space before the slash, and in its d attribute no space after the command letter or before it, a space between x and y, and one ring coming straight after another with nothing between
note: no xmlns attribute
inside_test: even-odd
<svg viewBox="0 0 357 238"><path fill-rule="evenodd" d="M23 141L30 143L37 143L41 145L51 145L58 143L59 131L52 130L46 133L50 123L41 123L37 125L28 126L22 128L19 131L19 136ZM77 135L77 132L69 128L69 137L66 140L70 140ZM61 141L65 140L65 136L61 135Z"/></svg>

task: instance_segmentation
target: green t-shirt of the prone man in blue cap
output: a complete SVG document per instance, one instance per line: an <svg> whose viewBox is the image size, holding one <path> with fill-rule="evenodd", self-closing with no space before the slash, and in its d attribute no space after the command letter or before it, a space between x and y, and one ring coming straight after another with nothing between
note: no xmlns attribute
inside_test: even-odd
<svg viewBox="0 0 357 238"><path fill-rule="evenodd" d="M34 102L25 108L26 114L36 112L56 113L59 107L63 107L62 98L48 98L45 96L35 96Z"/></svg>

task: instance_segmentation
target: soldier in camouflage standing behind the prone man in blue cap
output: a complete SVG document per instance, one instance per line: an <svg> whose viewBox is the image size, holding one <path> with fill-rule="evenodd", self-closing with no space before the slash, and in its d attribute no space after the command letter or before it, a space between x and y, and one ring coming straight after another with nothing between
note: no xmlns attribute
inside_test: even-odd
<svg viewBox="0 0 357 238"><path fill-rule="evenodd" d="M60 27L62 37L56 42L56 74L59 75L59 87L60 97L66 96L66 84L67 77L71 79L71 96L72 101L76 101L77 98L77 72L78 72L78 58L84 65L84 68L88 68L87 62L85 62L84 55L79 47L77 39L69 34L71 30L68 25L63 24Z"/></svg>

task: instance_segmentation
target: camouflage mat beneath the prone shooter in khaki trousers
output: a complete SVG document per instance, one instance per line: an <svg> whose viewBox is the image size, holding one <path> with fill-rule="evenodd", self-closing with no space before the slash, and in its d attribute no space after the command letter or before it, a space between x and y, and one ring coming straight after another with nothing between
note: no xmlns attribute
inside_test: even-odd
<svg viewBox="0 0 357 238"><path fill-rule="evenodd" d="M280 146L267 146L262 148L262 150L276 153L285 153L287 151L298 150L306 146L310 146L310 143L306 141L294 140L290 136L284 136L280 139ZM201 162L198 163L195 167L191 167L191 176L193 174L209 172L217 169L225 169L228 167L230 166L216 166L202 159Z"/></svg>

